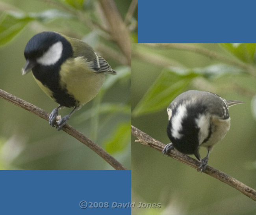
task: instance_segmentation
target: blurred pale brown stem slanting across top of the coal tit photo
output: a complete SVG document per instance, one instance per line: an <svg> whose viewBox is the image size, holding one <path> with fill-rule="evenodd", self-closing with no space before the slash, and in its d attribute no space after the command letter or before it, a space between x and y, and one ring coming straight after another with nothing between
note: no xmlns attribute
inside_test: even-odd
<svg viewBox="0 0 256 215"><path fill-rule="evenodd" d="M171 49L178 49L178 50L192 51L195 53L199 53L199 54L208 56L208 57L216 59L216 60L221 60L221 61L225 62L226 64L230 64L232 66L237 66L241 69L244 69L245 72L249 73L253 77L256 77L256 68L255 67L253 67L249 64L244 64L243 62L240 62L238 60L233 60L229 57L221 55L215 51L210 51L203 47L191 46L189 44L180 44L180 43L158 43L158 44L150 43L150 44L145 44L145 45L151 46L151 47L171 48Z"/></svg>

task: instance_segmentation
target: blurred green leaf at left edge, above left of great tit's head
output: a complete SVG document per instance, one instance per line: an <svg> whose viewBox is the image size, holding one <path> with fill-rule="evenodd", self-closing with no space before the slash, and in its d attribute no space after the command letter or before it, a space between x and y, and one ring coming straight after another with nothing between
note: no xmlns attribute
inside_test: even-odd
<svg viewBox="0 0 256 215"><path fill-rule="evenodd" d="M0 18L0 46L11 41L20 31L35 18L25 16L24 13L4 13Z"/></svg>

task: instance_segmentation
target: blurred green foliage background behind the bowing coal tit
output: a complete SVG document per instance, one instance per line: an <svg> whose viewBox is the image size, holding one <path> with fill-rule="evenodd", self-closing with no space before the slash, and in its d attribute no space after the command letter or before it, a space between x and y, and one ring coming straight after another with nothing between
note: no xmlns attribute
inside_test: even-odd
<svg viewBox="0 0 256 215"><path fill-rule="evenodd" d="M229 109L230 131L209 165L256 189L255 64L256 44L132 44L132 125L168 144L166 109L180 93L245 101ZM132 214L256 214L255 202L236 189L134 141L132 202L161 208L135 207Z"/></svg>

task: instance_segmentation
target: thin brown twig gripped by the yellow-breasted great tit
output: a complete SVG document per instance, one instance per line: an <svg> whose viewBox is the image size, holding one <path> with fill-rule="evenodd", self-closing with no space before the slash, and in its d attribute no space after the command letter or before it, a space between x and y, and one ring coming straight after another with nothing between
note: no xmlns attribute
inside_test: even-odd
<svg viewBox="0 0 256 215"><path fill-rule="evenodd" d="M10 93L7 93L2 89L0 89L0 97L48 121L49 114L43 109L38 108L33 104L30 104L14 95L11 95ZM127 170L127 168L125 168L119 161L117 161L108 152L106 152L104 149L98 146L95 142L91 141L88 137L83 135L81 132L77 131L76 129L72 128L69 125L65 125L65 128L63 128L63 131L65 131L72 137L76 138L77 140L79 140L80 142L88 146L90 149L92 149L94 152L100 155L100 157L106 160L106 162L108 162L111 166L113 166L113 168L118 170Z"/></svg>

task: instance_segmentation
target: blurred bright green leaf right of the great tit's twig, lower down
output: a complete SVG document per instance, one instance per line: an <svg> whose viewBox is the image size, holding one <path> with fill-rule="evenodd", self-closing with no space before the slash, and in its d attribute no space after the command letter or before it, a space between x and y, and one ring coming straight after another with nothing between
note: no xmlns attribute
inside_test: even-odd
<svg viewBox="0 0 256 215"><path fill-rule="evenodd" d="M130 143L131 138L131 123L125 122L117 125L113 134L109 136L109 139L105 142L105 148L108 153L113 154L120 152L126 148Z"/></svg>

